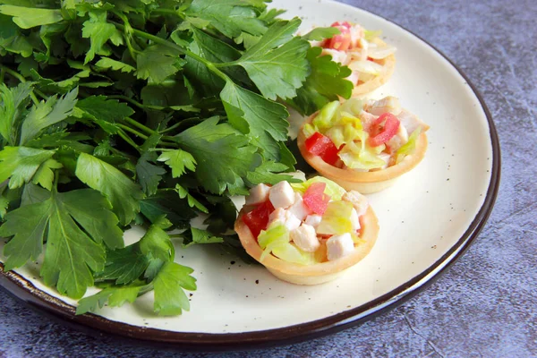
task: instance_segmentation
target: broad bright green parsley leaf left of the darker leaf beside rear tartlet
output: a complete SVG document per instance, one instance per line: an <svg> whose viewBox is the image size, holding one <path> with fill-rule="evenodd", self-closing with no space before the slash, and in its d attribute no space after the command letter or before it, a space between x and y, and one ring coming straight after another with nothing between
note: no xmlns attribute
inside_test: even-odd
<svg viewBox="0 0 537 358"><path fill-rule="evenodd" d="M264 97L294 98L310 72L308 41L293 37L299 19L277 21L236 61L248 72Z"/></svg>

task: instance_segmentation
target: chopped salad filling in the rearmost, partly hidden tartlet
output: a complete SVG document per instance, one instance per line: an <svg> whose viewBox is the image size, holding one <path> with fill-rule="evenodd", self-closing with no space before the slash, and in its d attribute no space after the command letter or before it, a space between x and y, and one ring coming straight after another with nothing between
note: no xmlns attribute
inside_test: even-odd
<svg viewBox="0 0 537 358"><path fill-rule="evenodd" d="M313 41L312 45L322 47L323 55L331 55L333 61L348 66L352 73L346 79L354 86L391 71L388 67L392 64L385 60L394 55L396 47L382 41L380 31L365 30L348 21L334 22L332 27L340 34L324 41Z"/></svg>

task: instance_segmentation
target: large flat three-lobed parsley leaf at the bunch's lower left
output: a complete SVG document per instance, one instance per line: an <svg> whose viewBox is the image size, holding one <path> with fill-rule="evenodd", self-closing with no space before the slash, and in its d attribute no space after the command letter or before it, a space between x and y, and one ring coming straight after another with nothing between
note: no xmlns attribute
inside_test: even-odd
<svg viewBox="0 0 537 358"><path fill-rule="evenodd" d="M93 284L90 270L104 267L105 250L100 243L118 247L123 234L109 211L110 204L98 192L81 189L47 195L47 200L6 214L0 235L13 238L4 247L5 266L17 268L37 259L47 238L41 268L45 284L56 286L60 294L80 298Z"/></svg>

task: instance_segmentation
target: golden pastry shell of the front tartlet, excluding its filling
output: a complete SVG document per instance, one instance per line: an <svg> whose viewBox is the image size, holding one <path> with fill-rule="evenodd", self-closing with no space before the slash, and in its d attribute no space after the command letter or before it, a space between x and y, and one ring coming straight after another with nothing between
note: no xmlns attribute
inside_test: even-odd
<svg viewBox="0 0 537 358"><path fill-rule="evenodd" d="M324 181L328 182L326 180ZM354 266L371 251L379 234L378 219L373 209L368 205L367 209L364 210L359 218L359 242L354 243L354 250L351 253L336 260L328 260L327 257L329 255L327 254L326 238L319 239L321 242L325 241L325 246L323 247L323 243L320 243L320 248L314 255L322 259L304 265L282 260L272 253L268 255L263 254L264 249L261 248L258 238L252 234L251 229L243 220L243 217L251 209L252 207L248 205L243 207L234 225L234 230L239 235L243 248L253 259L259 261L274 276L296 285L319 285L339 277L347 268ZM263 231L261 231L262 233Z"/></svg>

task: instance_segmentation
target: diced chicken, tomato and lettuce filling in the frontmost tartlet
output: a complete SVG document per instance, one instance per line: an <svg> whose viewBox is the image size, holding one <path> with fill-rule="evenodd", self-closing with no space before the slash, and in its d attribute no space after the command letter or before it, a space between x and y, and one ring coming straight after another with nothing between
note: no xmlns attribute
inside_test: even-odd
<svg viewBox="0 0 537 358"><path fill-rule="evenodd" d="M242 220L263 250L261 261L273 255L312 265L349 256L364 243L361 217L368 208L361 193L317 176L251 188Z"/></svg>

